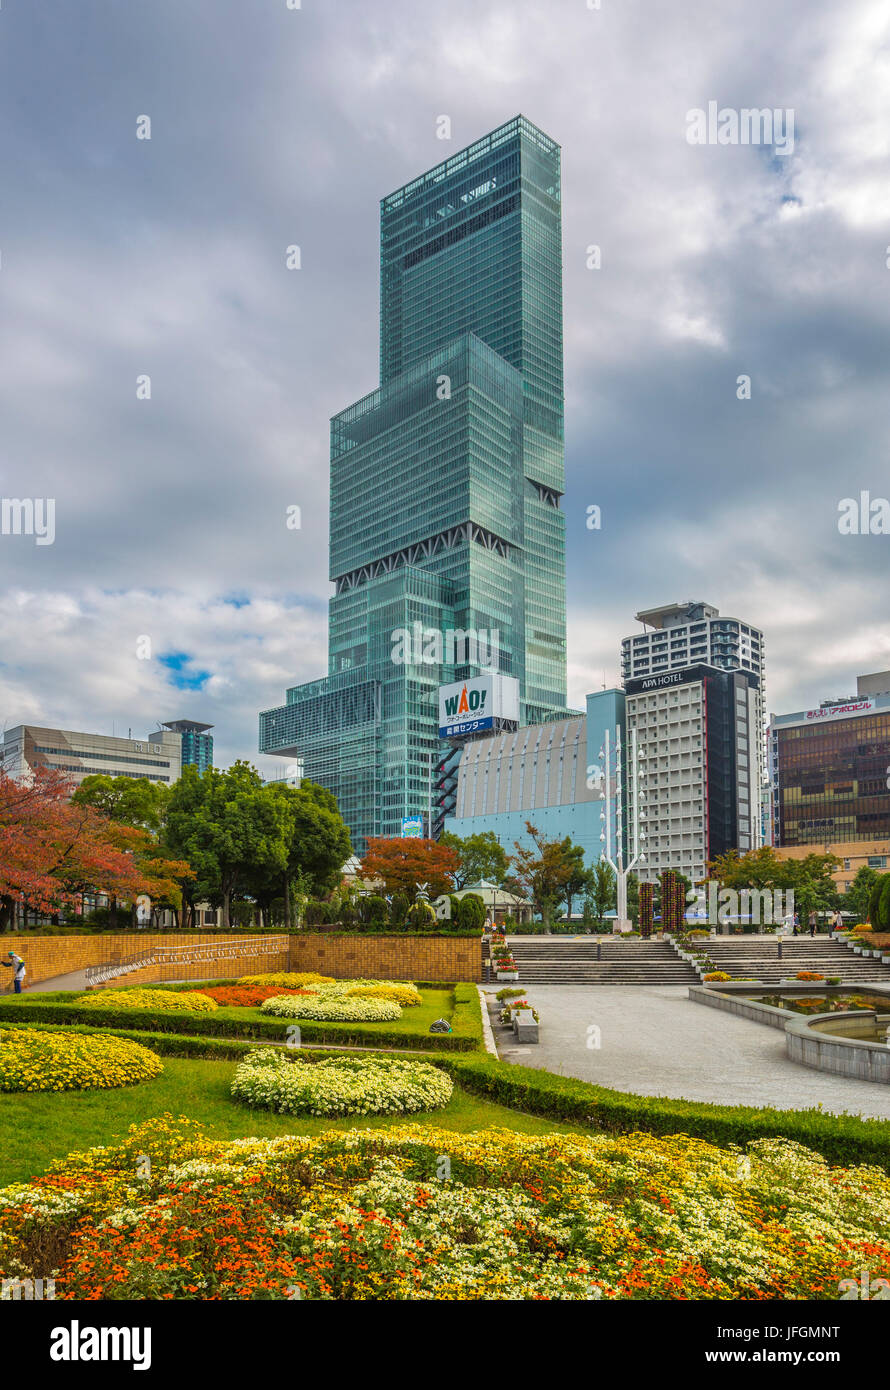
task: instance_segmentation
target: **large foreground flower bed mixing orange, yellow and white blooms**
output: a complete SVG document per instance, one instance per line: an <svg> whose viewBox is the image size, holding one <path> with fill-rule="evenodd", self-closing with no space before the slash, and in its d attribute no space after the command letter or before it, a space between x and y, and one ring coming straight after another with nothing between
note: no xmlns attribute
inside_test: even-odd
<svg viewBox="0 0 890 1390"><path fill-rule="evenodd" d="M832 1302L890 1275L887 1175L787 1140L745 1156L419 1125L231 1143L165 1118L0 1191L0 1273L53 1269L57 1300Z"/></svg>

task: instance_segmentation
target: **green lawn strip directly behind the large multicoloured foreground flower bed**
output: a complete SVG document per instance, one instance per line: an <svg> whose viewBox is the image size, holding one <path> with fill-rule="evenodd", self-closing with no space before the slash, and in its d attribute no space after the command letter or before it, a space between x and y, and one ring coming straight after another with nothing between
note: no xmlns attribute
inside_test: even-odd
<svg viewBox="0 0 890 1390"><path fill-rule="evenodd" d="M229 1099L235 1062L203 1062L165 1056L161 1076L114 1091L63 1091L0 1094L0 1187L26 1182L44 1172L56 1158L74 1150L110 1144L129 1125L170 1111L200 1120L216 1138L250 1134L318 1134L327 1129L377 1129L400 1123L398 1116L349 1116L331 1120L313 1116L274 1115ZM521 1111L506 1109L455 1086L441 1111L405 1116L405 1122L452 1130L498 1125L523 1134L578 1133L580 1126L560 1125Z"/></svg>

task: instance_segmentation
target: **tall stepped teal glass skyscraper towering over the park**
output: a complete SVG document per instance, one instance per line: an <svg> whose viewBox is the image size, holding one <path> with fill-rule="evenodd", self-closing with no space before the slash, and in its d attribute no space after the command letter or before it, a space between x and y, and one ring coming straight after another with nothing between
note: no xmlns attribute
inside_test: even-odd
<svg viewBox="0 0 890 1390"><path fill-rule="evenodd" d="M331 421L328 676L260 714L357 852L427 809L438 687L483 670L445 634L496 634L524 723L565 710L559 179L516 117L381 203L381 385ZM405 630L442 651L406 660Z"/></svg>

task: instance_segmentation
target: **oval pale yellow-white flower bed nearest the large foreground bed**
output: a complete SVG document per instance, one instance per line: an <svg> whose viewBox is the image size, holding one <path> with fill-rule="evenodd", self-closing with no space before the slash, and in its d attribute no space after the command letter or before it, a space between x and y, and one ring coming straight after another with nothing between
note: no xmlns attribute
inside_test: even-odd
<svg viewBox="0 0 890 1390"><path fill-rule="evenodd" d="M453 1083L428 1062L395 1058L291 1061L275 1048L249 1052L232 1095L278 1115L407 1115L448 1105Z"/></svg>

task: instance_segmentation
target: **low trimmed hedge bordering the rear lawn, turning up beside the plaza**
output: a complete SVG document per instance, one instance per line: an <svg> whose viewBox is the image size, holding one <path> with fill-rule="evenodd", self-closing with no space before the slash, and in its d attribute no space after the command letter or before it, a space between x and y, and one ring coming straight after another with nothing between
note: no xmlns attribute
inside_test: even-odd
<svg viewBox="0 0 890 1390"><path fill-rule="evenodd" d="M38 1002L25 994L7 995L0 999L0 1022L39 1023L51 1020L53 1023L89 1023L93 1031L135 1029L152 1033L179 1033L200 1034L202 1037L254 1038L256 1041L281 1041L282 1027L286 1019L234 1019L228 1011L216 1013L184 1013L165 1012L163 1009L122 1009L114 1012L102 1008L90 1009L75 1006L72 1001L81 998L74 991L58 991L51 995L53 1002ZM243 1012L243 1011L234 1011ZM220 1013L227 1016L220 1017ZM478 1001L478 991L474 984L456 984L453 987L453 1011L451 1017L452 1031L394 1031L385 1023L317 1023L300 1019L300 1036L306 1041L330 1042L337 1045L367 1047L377 1045L396 1049L424 1049L435 1051L448 1048L455 1052L474 1052L481 1048L483 1022Z"/></svg>

